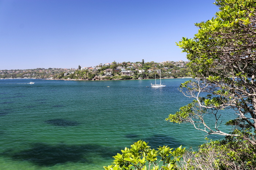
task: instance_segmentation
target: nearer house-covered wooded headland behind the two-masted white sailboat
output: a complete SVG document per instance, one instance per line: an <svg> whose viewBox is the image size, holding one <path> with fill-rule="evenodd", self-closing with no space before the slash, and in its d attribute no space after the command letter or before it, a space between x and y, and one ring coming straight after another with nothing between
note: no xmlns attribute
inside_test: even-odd
<svg viewBox="0 0 256 170"><path fill-rule="evenodd" d="M188 62L182 60L178 62L166 61L155 62L123 62L123 63L105 63L95 67L81 67L71 72L62 72L55 75L54 79L67 80L124 80L124 79L153 79L159 78L160 72L162 78L187 77Z"/></svg>

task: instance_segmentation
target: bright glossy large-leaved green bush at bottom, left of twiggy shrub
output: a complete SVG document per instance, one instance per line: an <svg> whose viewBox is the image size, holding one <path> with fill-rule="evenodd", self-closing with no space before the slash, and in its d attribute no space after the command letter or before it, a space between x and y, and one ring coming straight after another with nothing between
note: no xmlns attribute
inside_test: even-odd
<svg viewBox="0 0 256 170"><path fill-rule="evenodd" d="M140 140L121 150L122 154L114 156L113 165L104 166L105 170L176 170L185 148L173 150L168 146L150 149L148 143ZM159 163L161 166L159 167Z"/></svg>

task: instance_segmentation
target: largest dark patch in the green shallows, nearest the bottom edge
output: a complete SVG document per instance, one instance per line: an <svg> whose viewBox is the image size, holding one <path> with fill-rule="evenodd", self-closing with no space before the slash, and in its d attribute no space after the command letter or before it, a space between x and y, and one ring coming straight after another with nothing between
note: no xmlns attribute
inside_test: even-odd
<svg viewBox="0 0 256 170"><path fill-rule="evenodd" d="M1 155L11 157L15 161L29 161L38 166L54 166L67 162L93 163L92 155L102 158L111 158L114 152L110 148L99 145L48 145L35 143L30 149L14 153L13 150L4 151Z"/></svg>

